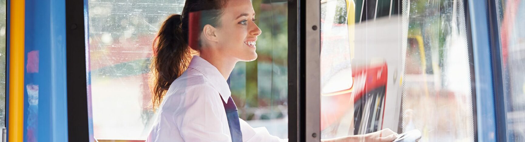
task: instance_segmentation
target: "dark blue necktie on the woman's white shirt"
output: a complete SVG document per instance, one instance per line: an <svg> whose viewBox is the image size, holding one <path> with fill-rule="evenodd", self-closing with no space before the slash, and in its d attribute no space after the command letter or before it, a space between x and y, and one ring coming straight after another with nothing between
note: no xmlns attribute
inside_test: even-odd
<svg viewBox="0 0 525 142"><path fill-rule="evenodd" d="M226 111L232 142L242 142L243 133L240 132L239 114L237 113L237 106L235 106L232 96L228 98L228 103L225 103L222 98L220 100L223 101L224 110Z"/></svg>

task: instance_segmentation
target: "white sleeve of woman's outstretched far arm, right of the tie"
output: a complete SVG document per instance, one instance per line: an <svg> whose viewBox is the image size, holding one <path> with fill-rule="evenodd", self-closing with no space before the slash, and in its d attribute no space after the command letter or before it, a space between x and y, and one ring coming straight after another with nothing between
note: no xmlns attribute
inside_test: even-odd
<svg viewBox="0 0 525 142"><path fill-rule="evenodd" d="M244 142L259 142L259 141L268 141L268 142L287 142L288 139L280 139L279 137L272 136L268 133L268 130L265 127L253 128L243 119L239 118L240 130L243 132L243 141Z"/></svg>

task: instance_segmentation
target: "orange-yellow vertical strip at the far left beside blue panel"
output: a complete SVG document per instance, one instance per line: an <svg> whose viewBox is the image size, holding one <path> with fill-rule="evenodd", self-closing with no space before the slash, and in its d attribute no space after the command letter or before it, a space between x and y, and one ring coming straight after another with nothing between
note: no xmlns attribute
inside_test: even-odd
<svg viewBox="0 0 525 142"><path fill-rule="evenodd" d="M9 31L9 126L10 142L23 141L24 135L24 36L25 0L10 1Z"/></svg>

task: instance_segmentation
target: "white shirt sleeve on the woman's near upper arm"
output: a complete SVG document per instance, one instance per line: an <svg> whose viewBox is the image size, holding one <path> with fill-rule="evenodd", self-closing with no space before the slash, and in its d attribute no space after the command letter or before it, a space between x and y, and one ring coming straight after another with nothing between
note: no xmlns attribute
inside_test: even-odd
<svg viewBox="0 0 525 142"><path fill-rule="evenodd" d="M222 104L217 105L215 99L220 99L219 93L211 86L199 85L187 89L183 95L180 110L174 114L184 141L232 141L228 126L223 126L221 119L224 110Z"/></svg>

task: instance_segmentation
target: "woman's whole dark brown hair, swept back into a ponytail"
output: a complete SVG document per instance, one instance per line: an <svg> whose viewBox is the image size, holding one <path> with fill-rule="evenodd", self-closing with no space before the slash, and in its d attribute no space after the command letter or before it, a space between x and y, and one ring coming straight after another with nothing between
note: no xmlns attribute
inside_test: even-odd
<svg viewBox="0 0 525 142"><path fill-rule="evenodd" d="M195 34L199 35L205 25L220 26L218 19L225 6L226 0L187 0L181 15L170 15L162 23L153 40L150 65L153 110L160 106L171 83L187 69L194 53L192 51L199 50L200 40L192 37L198 37ZM198 40L198 45L189 48L188 42L193 40Z"/></svg>

